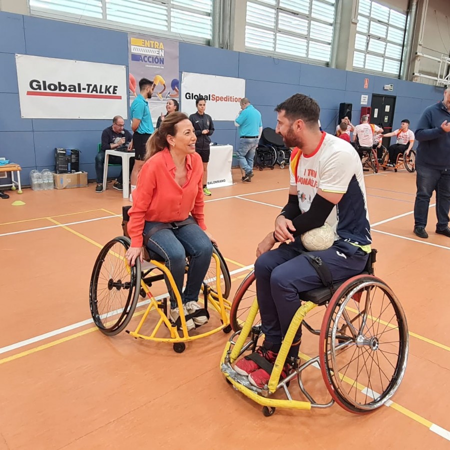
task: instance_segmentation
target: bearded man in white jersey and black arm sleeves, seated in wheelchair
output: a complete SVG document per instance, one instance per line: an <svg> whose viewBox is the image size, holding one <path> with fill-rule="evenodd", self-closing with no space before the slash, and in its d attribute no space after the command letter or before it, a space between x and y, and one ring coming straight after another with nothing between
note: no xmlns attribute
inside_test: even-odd
<svg viewBox="0 0 450 450"><path fill-rule="evenodd" d="M318 256L334 282L360 273L370 252L370 225L361 161L348 142L319 130L320 108L312 98L295 94L280 103L276 132L291 154L287 204L275 219L275 229L259 243L254 273L264 342L234 369L262 387L268 382L288 326L300 306L299 292L322 285L306 253ZM371 143L370 143L371 146ZM334 244L323 251L307 252L300 235L328 223ZM275 242L282 242L271 249ZM281 376L298 355L301 327L287 355ZM263 368L263 367L264 368ZM268 371L267 371L268 368Z"/></svg>

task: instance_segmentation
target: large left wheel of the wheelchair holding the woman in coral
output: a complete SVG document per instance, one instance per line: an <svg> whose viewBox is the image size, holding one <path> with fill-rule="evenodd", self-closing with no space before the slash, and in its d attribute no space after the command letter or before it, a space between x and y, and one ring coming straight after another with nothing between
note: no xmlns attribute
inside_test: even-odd
<svg viewBox="0 0 450 450"><path fill-rule="evenodd" d="M140 293L140 260L127 267L128 237L115 237L104 245L95 261L89 287L92 319L104 334L119 333L131 319Z"/></svg>

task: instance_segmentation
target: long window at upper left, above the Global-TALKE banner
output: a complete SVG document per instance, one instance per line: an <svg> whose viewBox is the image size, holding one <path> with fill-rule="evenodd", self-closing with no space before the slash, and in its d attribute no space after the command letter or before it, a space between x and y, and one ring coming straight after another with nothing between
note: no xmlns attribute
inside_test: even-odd
<svg viewBox="0 0 450 450"><path fill-rule="evenodd" d="M70 3L79 3L80 11L79 13L74 12L66 12L59 9L51 9L48 7L36 6L38 3L51 3L51 0L28 0L28 7L30 10L30 14L33 16L45 17L45 18L53 18L56 20L64 20L68 22L81 23L85 25L97 26L101 28L115 29L119 31L125 32L134 32L134 33L142 33L142 34L151 34L159 37L166 37L175 40L181 40L186 42L193 43L201 43L201 44L209 44L212 38L212 4L213 0L189 0L192 5L188 4L187 6L183 3L185 1L182 0L71 0ZM59 1L58 3L69 3L68 0ZM159 8L161 11L166 8L167 13L165 15L165 23L166 26L155 27L146 27L143 23L132 24L128 22L120 22L111 18L108 18L108 5L112 2L112 4L116 3L116 6L121 11L117 14L122 14L124 18L128 17L126 12L126 3L136 2L138 6L145 7L147 4L150 8ZM81 9L81 5L85 4L85 7ZM89 5L91 3L91 5ZM95 4L96 3L96 4ZM195 4L198 3L198 4ZM93 4L93 5L92 5ZM98 5L101 4L101 16L98 14ZM59 6L61 6L59 4ZM209 6L209 7L208 7ZM92 9L95 10L96 14L89 14L92 12ZM209 11L208 11L209 9ZM87 14L86 14L87 12ZM181 14L180 14L181 13ZM176 31L173 30L173 21L174 19L180 19L182 14L190 15L190 21L192 19L202 20L204 19L209 22L209 33L208 35L194 35L189 34L188 32L180 32L178 29ZM117 16L116 15L116 16ZM120 16L120 15L119 15ZM141 17L142 14L139 14L138 17ZM111 14L112 17L112 14ZM181 20L182 23L182 20ZM187 21L189 23L189 20ZM205 27L207 28L207 26ZM204 31L206 33L206 31Z"/></svg>

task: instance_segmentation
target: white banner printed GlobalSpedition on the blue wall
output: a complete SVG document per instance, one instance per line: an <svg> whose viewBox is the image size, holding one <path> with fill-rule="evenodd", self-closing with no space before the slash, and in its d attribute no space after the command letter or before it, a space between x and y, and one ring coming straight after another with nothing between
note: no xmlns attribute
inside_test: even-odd
<svg viewBox="0 0 450 450"><path fill-rule="evenodd" d="M181 75L181 110L196 112L195 99L206 99L206 113L212 120L234 120L245 96L245 79L183 72Z"/></svg>

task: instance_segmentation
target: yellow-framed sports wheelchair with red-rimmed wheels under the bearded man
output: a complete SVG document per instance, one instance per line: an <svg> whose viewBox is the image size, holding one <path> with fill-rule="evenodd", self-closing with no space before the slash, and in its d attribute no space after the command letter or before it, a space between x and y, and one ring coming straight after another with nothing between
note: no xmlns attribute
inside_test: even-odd
<svg viewBox="0 0 450 450"><path fill-rule="evenodd" d="M359 275L299 294L300 306L284 336L270 379L262 388L255 387L248 377L233 369L234 362L246 351L255 351L262 337L254 273L242 281L231 305L234 333L223 350L220 370L236 390L263 406L265 416L272 415L275 407L326 408L334 402L347 411L364 413L388 402L397 390L406 368L408 328L397 297L373 274L375 255L376 250L372 250ZM326 309L320 329L314 329L304 318L318 305L325 305ZM300 326L319 336L318 355L299 353L291 361L291 372L281 378ZM315 401L303 384L303 370L313 365L319 365L331 396L327 403ZM288 387L294 379L298 382L298 395L302 394L303 399L292 397L292 389ZM286 399L279 398L278 391Z"/></svg>

